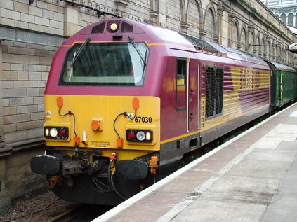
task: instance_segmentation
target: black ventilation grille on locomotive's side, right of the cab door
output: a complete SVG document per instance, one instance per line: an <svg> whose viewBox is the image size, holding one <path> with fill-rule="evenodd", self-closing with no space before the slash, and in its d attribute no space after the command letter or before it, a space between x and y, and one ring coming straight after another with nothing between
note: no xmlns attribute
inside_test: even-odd
<svg viewBox="0 0 297 222"><path fill-rule="evenodd" d="M206 68L206 118L223 111L223 67Z"/></svg>

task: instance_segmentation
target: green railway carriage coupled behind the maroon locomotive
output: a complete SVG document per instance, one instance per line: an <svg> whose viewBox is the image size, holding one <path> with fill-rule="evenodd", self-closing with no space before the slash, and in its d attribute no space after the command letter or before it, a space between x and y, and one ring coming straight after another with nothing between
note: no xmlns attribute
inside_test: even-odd
<svg viewBox="0 0 297 222"><path fill-rule="evenodd" d="M272 70L271 106L280 107L297 98L297 69L276 62L268 63Z"/></svg>

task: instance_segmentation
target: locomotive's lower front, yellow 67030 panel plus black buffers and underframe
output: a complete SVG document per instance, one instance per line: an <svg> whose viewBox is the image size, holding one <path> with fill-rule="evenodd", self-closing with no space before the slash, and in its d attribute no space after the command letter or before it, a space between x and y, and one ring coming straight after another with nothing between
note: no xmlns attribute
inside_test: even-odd
<svg viewBox="0 0 297 222"><path fill-rule="evenodd" d="M31 166L48 176L62 199L117 204L154 181L160 148L158 97L45 95L45 104L48 150L32 158ZM80 189L90 197L69 193Z"/></svg>

